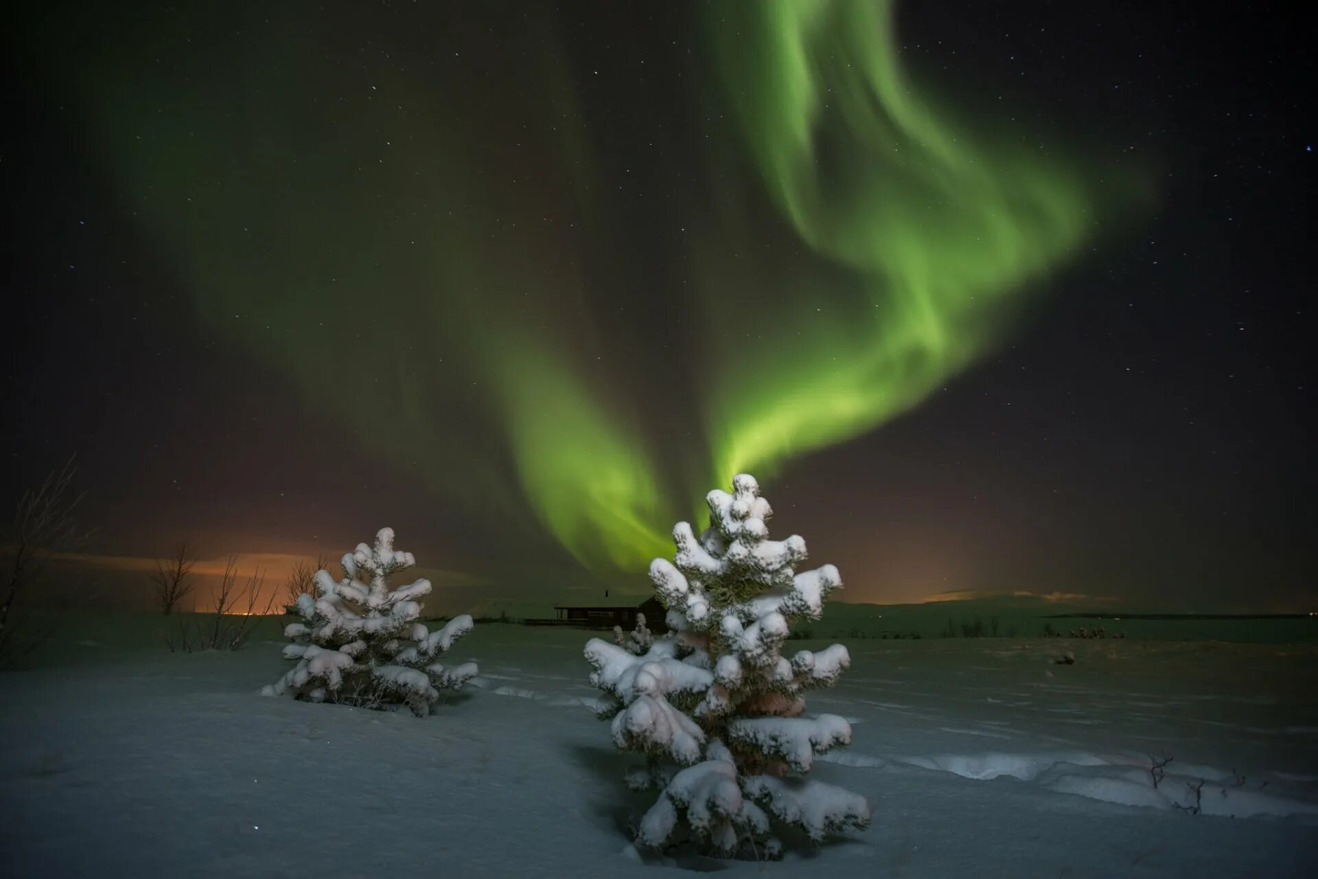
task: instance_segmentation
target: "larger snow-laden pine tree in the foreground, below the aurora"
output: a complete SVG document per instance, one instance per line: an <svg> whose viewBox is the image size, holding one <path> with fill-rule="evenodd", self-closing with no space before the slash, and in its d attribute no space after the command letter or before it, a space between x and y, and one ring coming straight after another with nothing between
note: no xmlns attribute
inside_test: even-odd
<svg viewBox="0 0 1318 879"><path fill-rule="evenodd" d="M768 539L768 502L749 474L733 494L706 497L709 527L673 528L672 563L655 559L650 579L667 608L670 634L643 655L594 638L585 647L590 683L608 693L618 747L646 755L627 785L660 791L637 843L683 841L721 857L778 857L775 825L812 841L865 828L865 797L804 779L816 754L851 741L834 714L805 717L805 691L834 684L846 647L780 655L793 619L817 619L841 585L837 568L795 573L805 542Z"/></svg>

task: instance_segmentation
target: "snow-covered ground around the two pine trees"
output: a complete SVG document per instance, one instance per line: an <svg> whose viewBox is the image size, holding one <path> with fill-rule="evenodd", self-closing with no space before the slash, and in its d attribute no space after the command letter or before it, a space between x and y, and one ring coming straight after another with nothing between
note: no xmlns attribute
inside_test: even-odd
<svg viewBox="0 0 1318 879"><path fill-rule="evenodd" d="M0 675L0 875L637 875L626 826L652 797L592 713L589 634L477 626L453 655L480 676L418 720L261 697L275 633L191 655L71 634ZM809 705L853 745L812 778L869 797L873 826L655 875L1318 875L1318 646L847 646ZM1156 789L1151 756L1172 758Z"/></svg>

